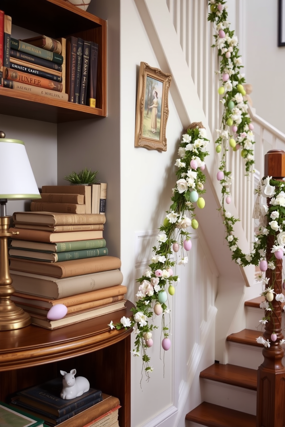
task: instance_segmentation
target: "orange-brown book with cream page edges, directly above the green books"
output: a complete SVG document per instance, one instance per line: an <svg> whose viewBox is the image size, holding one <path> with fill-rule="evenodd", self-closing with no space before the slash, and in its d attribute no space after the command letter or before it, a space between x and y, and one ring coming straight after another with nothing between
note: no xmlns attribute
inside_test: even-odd
<svg viewBox="0 0 285 427"><path fill-rule="evenodd" d="M76 240L91 240L91 239L102 239L102 230L90 230L90 231L65 231L63 233L54 233L49 231L41 230L24 230L24 228L10 228L10 232L13 234L13 239L16 240L35 240L35 242L73 242Z"/></svg>

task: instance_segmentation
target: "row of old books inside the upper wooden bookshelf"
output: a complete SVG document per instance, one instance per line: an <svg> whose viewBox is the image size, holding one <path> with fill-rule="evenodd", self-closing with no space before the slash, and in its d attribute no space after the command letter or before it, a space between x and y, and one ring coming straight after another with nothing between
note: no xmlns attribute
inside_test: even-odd
<svg viewBox="0 0 285 427"><path fill-rule="evenodd" d="M0 10L0 77L5 88L95 107L98 44L79 37L12 37Z"/></svg>

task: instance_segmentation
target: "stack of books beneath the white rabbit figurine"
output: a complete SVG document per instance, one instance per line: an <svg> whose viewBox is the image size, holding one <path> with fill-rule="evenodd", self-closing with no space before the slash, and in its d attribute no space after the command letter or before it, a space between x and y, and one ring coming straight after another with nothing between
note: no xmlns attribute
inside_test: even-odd
<svg viewBox="0 0 285 427"><path fill-rule="evenodd" d="M48 426L119 427L118 398L90 387L76 398L62 399L61 391L62 377L49 380L17 392L11 407L41 418Z"/></svg>

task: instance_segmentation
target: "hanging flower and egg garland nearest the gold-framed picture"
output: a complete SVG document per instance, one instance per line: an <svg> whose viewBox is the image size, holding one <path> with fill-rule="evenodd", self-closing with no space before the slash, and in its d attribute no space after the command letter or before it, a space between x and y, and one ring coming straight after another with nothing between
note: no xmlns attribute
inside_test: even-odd
<svg viewBox="0 0 285 427"><path fill-rule="evenodd" d="M175 288L179 283L176 275L176 265L188 263L187 252L191 249L191 234L189 227L198 228L195 218L195 208L203 209L205 200L202 195L205 193L203 184L206 181L203 170L205 161L209 153L206 148L209 140L206 137L206 130L202 123L193 123L185 135L178 149L179 158L176 159L175 166L177 181L173 188L172 204L163 224L160 226L160 233L157 236L158 246L153 247L153 257L148 269L139 282L136 294L137 302L132 308L132 316L123 316L120 323L109 323L111 329L134 328L136 334L134 356L142 356L143 366L147 375L153 371L150 366L150 357L147 355L147 348L153 345L152 332L157 326L151 323L154 314L162 315L162 348L167 351L170 348L170 330L165 323L165 315L170 316L167 306L168 298L174 295ZM186 254L185 254L186 252ZM175 260L173 260L173 253ZM180 256L178 257L178 253ZM173 272L174 269L174 272Z"/></svg>

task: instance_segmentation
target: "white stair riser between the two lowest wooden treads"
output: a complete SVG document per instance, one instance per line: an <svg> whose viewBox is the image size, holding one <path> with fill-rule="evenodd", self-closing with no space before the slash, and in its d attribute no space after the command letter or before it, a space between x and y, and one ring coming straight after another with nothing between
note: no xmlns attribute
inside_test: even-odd
<svg viewBox="0 0 285 427"><path fill-rule="evenodd" d="M201 395L205 402L256 415L256 391L218 381L201 379Z"/></svg>

